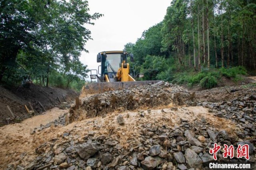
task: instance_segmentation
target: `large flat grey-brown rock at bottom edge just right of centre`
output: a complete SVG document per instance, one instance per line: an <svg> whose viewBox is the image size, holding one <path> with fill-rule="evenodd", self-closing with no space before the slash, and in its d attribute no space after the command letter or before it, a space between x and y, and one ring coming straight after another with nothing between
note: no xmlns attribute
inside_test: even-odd
<svg viewBox="0 0 256 170"><path fill-rule="evenodd" d="M158 156L148 156L145 160L141 161L142 168L144 170L153 170L159 164L162 164L164 160Z"/></svg>

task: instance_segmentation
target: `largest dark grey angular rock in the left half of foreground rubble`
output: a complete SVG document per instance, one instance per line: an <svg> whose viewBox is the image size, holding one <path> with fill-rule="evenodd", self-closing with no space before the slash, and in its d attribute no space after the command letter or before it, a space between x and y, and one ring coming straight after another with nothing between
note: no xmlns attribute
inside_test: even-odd
<svg viewBox="0 0 256 170"><path fill-rule="evenodd" d="M99 142L92 142L90 144L83 143L75 146L76 152L81 158L88 159L90 156L96 154L102 149Z"/></svg>

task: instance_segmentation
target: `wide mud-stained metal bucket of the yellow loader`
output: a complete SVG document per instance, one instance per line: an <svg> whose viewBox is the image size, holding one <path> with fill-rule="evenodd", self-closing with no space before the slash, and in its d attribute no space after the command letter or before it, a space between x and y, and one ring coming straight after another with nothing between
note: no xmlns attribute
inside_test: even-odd
<svg viewBox="0 0 256 170"><path fill-rule="evenodd" d="M136 86L141 86L141 85L155 84L160 81L161 80L90 83L83 87L80 97L85 97L88 94L102 93L105 91L127 89L128 87L136 87Z"/></svg>

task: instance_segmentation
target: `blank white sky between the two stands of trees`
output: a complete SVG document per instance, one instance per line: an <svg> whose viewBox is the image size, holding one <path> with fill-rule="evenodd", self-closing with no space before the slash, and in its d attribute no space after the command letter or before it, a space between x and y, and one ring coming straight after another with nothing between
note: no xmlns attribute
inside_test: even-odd
<svg viewBox="0 0 256 170"><path fill-rule="evenodd" d="M86 26L91 31L93 40L86 43L89 53L83 52L80 61L88 65L88 69L98 69L100 63L96 62L96 56L99 52L123 50L126 43L135 43L144 30L164 19L170 2L171 0L88 0L89 13L98 12L104 16L95 20L94 26Z"/></svg>

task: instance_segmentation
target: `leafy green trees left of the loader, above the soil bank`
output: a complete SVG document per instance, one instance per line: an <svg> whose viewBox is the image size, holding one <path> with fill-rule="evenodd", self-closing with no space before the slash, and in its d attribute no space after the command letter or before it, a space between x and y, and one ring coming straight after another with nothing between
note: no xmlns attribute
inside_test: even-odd
<svg viewBox="0 0 256 170"><path fill-rule="evenodd" d="M88 13L88 1L1 0L0 7L0 82L19 85L30 76L44 86L84 84L86 25L102 16Z"/></svg>

